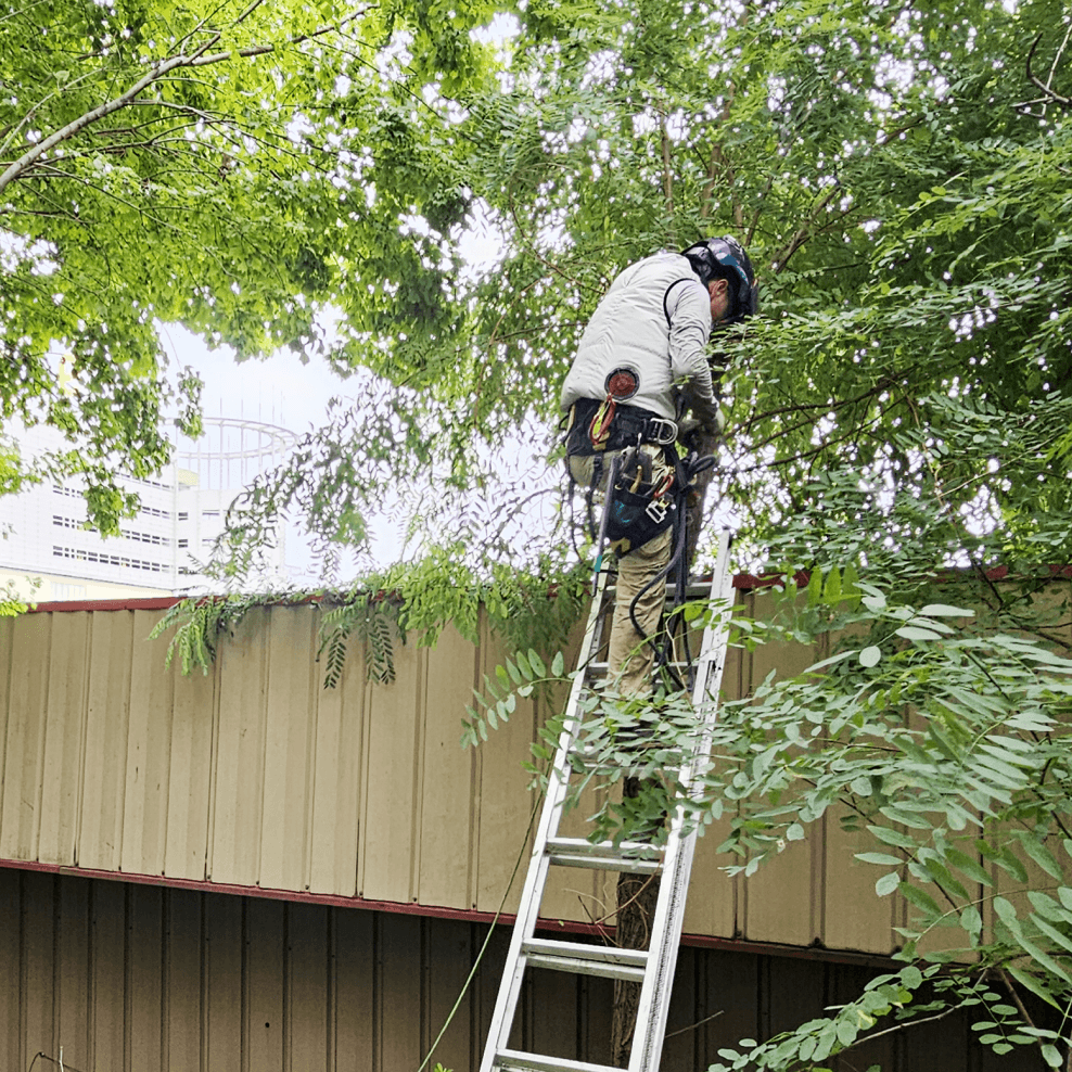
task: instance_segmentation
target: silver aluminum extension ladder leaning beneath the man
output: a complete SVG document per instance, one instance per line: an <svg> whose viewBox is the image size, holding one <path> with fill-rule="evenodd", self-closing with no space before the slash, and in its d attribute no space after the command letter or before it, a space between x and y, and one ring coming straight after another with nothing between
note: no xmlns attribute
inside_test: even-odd
<svg viewBox="0 0 1072 1072"><path fill-rule="evenodd" d="M729 607L732 600L732 574L729 571L729 534L724 533L718 558L711 582L690 586L690 598L711 597L724 600ZM685 898L692 870L697 831L684 832L684 809L677 807L671 816L666 843L662 846L643 842L591 843L580 838L560 838L559 822L569 791L573 765L574 737L579 726L579 702L604 664L592 660L600 647L600 625L605 621L608 601L613 601L614 589L607 584L607 573L601 573L596 598L592 600L588 626L580 649L578 673L573 680L569 707L558 752L548 776L547 797L540 815L539 827L533 843L528 875L521 895L521 905L507 954L506 969L499 985L499 996L492 1014L487 1045L481 1062L481 1072L616 1072L610 1065L591 1064L547 1057L509 1048L510 1032L521 996L526 967L550 968L575 974L603 975L641 983L637 1025L633 1036L633 1049L628 1072L656 1072L666 1033L669 1011L671 986L677 963L678 943L685 917ZM692 700L704 714L703 730L692 755L686 756L678 771L682 790L691 791L695 769L702 763L711 745L717 711L717 694L726 663L728 614L716 615L704 629L700 654L695 660L695 682ZM652 920L649 948L621 949L615 946L589 945L536 937L536 921L547 883L548 868L584 867L620 872L661 876L655 915Z"/></svg>

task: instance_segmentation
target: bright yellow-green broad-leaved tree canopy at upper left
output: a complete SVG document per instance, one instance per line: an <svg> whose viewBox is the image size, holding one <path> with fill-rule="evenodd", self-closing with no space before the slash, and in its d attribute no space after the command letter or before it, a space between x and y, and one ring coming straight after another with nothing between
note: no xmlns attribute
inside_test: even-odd
<svg viewBox="0 0 1072 1072"><path fill-rule="evenodd" d="M4 5L0 426L47 423L72 446L35 460L9 444L0 493L82 473L91 520L115 531L131 506L115 469L167 460L165 410L199 430L200 383L165 370L161 322L240 359L284 348L343 370L449 329L441 235L468 195L443 94L488 77L468 31L490 9L442 8Z"/></svg>

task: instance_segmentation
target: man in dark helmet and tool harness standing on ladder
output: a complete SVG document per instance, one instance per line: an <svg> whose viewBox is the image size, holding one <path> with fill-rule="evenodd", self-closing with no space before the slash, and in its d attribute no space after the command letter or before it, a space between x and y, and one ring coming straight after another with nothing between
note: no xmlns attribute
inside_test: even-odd
<svg viewBox="0 0 1072 1072"><path fill-rule="evenodd" d="M604 495L603 536L618 558L608 655L623 695L651 682L675 528L694 475L676 448L690 412L701 444L719 431L706 359L713 329L756 311L756 282L735 239L707 239L626 268L596 308L562 386L571 482ZM692 465L697 465L693 454ZM695 520L699 523L699 519ZM595 535L595 534L594 534ZM684 539L678 541L678 553ZM694 543L694 540L693 540Z"/></svg>

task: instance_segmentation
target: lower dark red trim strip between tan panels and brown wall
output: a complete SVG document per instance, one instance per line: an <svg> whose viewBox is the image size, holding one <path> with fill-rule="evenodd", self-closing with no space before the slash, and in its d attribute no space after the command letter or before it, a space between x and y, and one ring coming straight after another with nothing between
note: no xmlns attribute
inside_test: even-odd
<svg viewBox="0 0 1072 1072"><path fill-rule="evenodd" d="M426 916L432 919L457 919L471 923L490 923L495 914L476 909L448 908L442 905L406 904L397 901L370 901L365 897L345 897L334 893L309 893L296 890L266 890L260 886L235 885L229 882L208 882L197 879L167 878L163 875L138 875L125 871L98 871L87 867L67 867L63 864L41 864L35 860L0 859L0 868L21 871L43 871L78 879L98 879L104 882L131 882L136 885L159 885L171 890L194 890L202 893L226 893L243 897L261 897L267 901L292 901L299 904L328 905L332 908L357 908L366 911L387 911L401 916ZM512 927L515 915L503 913L499 923ZM541 918L536 929L554 934L589 934L609 936L613 927L582 923L572 919ZM762 956L793 957L804 960L825 960L833 963L863 965L888 968L896 963L892 957L873 953L854 953L847 949L827 949L812 945L779 945L774 942L748 942L742 939L715 937L710 934L682 934L681 944L701 949L726 949L735 953L755 953Z"/></svg>

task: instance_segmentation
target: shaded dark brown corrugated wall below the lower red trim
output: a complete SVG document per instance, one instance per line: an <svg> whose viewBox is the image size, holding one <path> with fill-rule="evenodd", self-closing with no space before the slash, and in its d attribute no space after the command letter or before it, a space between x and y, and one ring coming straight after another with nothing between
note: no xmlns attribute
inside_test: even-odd
<svg viewBox="0 0 1072 1072"><path fill-rule="evenodd" d="M0 868L0 1072L417 1072L484 942L444 919L201 893ZM509 932L435 1059L475 1072ZM607 980L533 973L527 1047L605 1062ZM663 1072L766 1038L859 993L873 970L682 948ZM38 1060L43 1054L50 1060ZM832 1064L856 1072L1018 1072L963 1019L923 1024Z"/></svg>

